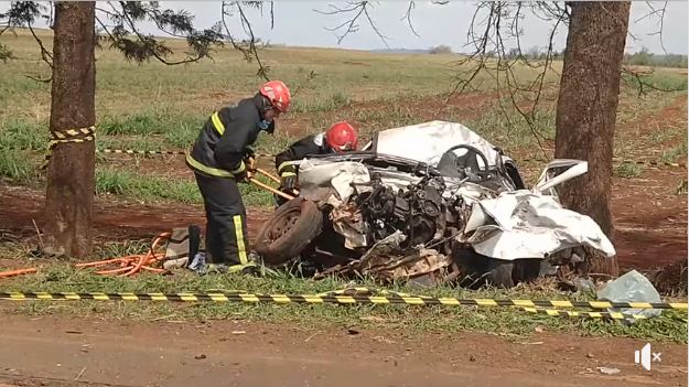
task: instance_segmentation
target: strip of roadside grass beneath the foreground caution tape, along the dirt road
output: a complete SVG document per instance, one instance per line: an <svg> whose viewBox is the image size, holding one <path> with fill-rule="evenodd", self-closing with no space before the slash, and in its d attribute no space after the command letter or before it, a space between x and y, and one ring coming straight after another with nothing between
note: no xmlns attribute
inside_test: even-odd
<svg viewBox="0 0 689 387"><path fill-rule="evenodd" d="M111 248L111 247L110 247ZM141 251L143 244L130 244L114 254ZM105 251L99 251L103 254ZM106 254L107 256L107 254ZM362 284L376 284L363 279ZM77 270L66 264L50 265L35 276L7 279L1 291L104 291L104 292L182 292L208 290L243 290L260 293L317 293L345 287L345 281L314 281L288 275L251 278L241 276L205 276L179 272L172 277L138 276L134 278L104 277ZM390 290L434 297L488 299L588 299L585 294L566 294L545 287L518 287L512 290L484 289L469 291L439 287L421 289L396 283ZM91 318L150 320L243 319L268 323L295 323L302 326L375 326L424 331L471 330L500 335L526 336L537 326L553 332L570 332L592 336L632 336L647 340L687 342L687 320L682 313L665 312L664 316L625 326L620 322L551 318L510 308L473 307L401 307L401 305L277 305L269 303L160 303L160 302L22 302L14 304L17 313L31 315L77 314Z"/></svg>

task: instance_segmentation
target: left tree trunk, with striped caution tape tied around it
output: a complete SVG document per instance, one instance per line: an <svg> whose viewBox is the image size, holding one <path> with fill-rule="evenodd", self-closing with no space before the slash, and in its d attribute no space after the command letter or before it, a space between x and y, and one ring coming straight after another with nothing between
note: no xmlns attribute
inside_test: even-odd
<svg viewBox="0 0 689 387"><path fill-rule="evenodd" d="M88 128L95 109L95 2L57 2L50 130ZM56 146L47 170L45 252L91 252L95 142Z"/></svg>

